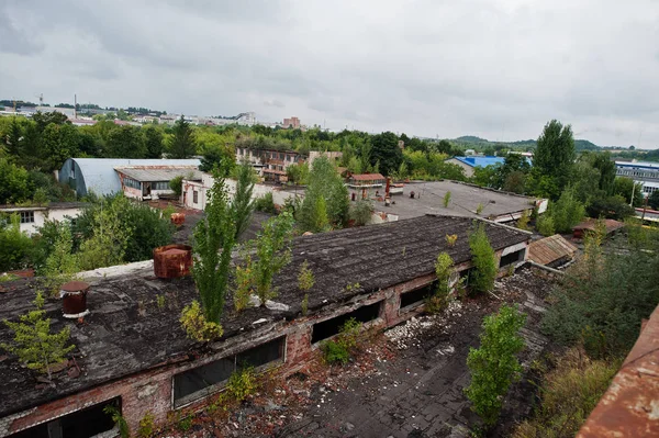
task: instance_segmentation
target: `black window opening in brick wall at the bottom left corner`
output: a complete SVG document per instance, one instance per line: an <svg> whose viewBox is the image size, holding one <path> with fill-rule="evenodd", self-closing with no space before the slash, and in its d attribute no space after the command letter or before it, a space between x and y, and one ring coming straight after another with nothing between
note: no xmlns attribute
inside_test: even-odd
<svg viewBox="0 0 659 438"><path fill-rule="evenodd" d="M21 430L8 438L91 438L114 429L112 416L103 409L113 405L121 412L121 398L112 398L91 407Z"/></svg>

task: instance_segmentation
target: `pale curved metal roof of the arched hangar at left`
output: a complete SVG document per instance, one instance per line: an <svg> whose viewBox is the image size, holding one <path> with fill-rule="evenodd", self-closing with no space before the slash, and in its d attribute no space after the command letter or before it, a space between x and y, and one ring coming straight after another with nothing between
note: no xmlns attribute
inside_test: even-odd
<svg viewBox="0 0 659 438"><path fill-rule="evenodd" d="M121 191L121 182L114 170L122 166L197 166L199 159L133 159L133 158L69 158L82 173L87 192L99 195Z"/></svg>

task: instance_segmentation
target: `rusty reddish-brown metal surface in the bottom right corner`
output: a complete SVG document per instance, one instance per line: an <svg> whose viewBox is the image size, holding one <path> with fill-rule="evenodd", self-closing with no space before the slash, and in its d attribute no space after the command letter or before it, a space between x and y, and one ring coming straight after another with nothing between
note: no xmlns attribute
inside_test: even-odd
<svg viewBox="0 0 659 438"><path fill-rule="evenodd" d="M659 436L659 306L578 438Z"/></svg>

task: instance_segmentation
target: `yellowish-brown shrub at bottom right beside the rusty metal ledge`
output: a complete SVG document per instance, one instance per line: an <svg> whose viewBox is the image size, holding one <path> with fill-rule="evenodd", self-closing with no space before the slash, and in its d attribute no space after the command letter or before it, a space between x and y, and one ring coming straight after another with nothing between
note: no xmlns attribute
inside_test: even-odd
<svg viewBox="0 0 659 438"><path fill-rule="evenodd" d="M513 438L572 438L595 407L619 368L619 361L591 360L572 348L544 375L540 404Z"/></svg>

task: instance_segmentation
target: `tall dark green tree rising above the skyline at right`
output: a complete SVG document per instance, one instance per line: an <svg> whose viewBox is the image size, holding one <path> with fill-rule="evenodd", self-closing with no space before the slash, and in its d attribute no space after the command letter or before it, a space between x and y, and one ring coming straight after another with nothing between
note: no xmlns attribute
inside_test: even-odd
<svg viewBox="0 0 659 438"><path fill-rule="evenodd" d="M532 171L535 191L556 200L570 183L574 166L572 127L552 120L545 125L537 143Z"/></svg>

